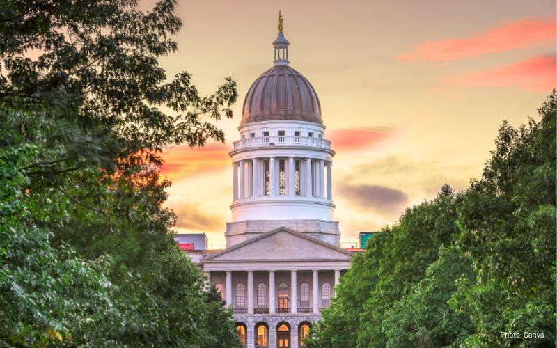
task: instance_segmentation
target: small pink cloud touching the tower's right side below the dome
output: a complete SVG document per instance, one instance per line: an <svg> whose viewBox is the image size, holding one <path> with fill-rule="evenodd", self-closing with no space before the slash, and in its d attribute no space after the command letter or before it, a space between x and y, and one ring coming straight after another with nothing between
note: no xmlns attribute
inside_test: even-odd
<svg viewBox="0 0 557 348"><path fill-rule="evenodd" d="M327 132L327 139L335 150L360 150L370 148L393 134L392 129L345 128Z"/></svg>

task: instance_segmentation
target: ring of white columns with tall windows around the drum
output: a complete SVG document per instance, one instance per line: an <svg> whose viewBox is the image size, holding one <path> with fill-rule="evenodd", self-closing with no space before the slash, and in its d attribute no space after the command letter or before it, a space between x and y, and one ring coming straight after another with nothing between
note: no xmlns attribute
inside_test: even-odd
<svg viewBox="0 0 557 348"><path fill-rule="evenodd" d="M333 200L331 166L331 161L311 157L270 156L234 161L233 200L260 196Z"/></svg>

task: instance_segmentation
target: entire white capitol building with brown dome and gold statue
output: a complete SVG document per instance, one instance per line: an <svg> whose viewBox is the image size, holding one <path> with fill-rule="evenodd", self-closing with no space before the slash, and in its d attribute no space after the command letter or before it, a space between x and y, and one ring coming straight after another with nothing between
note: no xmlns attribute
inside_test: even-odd
<svg viewBox="0 0 557 348"><path fill-rule="evenodd" d="M333 218L335 152L319 97L290 67L281 17L278 30L274 64L249 88L240 139L230 151L226 248L189 252L233 309L237 335L248 348L304 347L354 255L340 247ZM191 242L187 237L176 238Z"/></svg>

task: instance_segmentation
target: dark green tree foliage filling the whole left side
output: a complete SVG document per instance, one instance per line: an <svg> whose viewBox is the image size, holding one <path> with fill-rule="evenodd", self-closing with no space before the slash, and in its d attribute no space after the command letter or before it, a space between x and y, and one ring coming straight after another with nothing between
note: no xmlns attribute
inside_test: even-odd
<svg viewBox="0 0 557 348"><path fill-rule="evenodd" d="M162 207L163 148L223 141L237 99L167 79L174 6L0 1L0 345L239 344Z"/></svg>

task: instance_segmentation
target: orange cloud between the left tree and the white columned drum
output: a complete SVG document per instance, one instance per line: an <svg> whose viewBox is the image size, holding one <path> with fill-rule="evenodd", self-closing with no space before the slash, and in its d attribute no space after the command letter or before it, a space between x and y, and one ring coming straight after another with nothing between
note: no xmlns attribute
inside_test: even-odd
<svg viewBox="0 0 557 348"><path fill-rule="evenodd" d="M162 155L162 174L171 179L187 177L207 171L215 171L230 166L228 151L224 144L208 144L203 148L189 148L187 145L168 149Z"/></svg>

